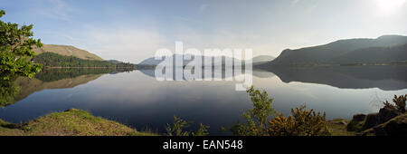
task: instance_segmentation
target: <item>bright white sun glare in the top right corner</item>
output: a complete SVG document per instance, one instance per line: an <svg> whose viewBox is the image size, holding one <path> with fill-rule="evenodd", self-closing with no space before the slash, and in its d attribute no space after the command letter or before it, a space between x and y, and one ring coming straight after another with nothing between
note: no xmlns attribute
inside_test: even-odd
<svg viewBox="0 0 407 154"><path fill-rule="evenodd" d="M406 0L376 0L380 13L384 15L395 14L404 5Z"/></svg>

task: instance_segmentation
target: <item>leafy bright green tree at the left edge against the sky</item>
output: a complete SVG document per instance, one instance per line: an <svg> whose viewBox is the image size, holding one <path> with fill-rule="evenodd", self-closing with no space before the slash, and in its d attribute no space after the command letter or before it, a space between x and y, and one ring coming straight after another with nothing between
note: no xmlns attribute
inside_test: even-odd
<svg viewBox="0 0 407 154"><path fill-rule="evenodd" d="M5 14L0 11L0 18ZM33 77L40 72L42 65L33 63L32 49L42 47L41 40L33 39L33 24L23 25L5 23L0 20L0 80L11 80L12 76Z"/></svg>

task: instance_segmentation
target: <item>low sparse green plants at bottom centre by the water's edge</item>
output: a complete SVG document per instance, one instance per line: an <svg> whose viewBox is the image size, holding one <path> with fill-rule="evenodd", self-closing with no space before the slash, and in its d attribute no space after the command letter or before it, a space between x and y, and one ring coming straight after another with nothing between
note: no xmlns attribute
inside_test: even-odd
<svg viewBox="0 0 407 154"><path fill-rule="evenodd" d="M188 128L190 124L194 123L193 121L186 121L182 120L179 117L174 116L174 123L171 124L166 124L166 135L167 136L206 136L209 133L207 133L207 129L209 126L205 126L204 124L200 123L200 128L194 132L191 131L185 131L185 128Z"/></svg>

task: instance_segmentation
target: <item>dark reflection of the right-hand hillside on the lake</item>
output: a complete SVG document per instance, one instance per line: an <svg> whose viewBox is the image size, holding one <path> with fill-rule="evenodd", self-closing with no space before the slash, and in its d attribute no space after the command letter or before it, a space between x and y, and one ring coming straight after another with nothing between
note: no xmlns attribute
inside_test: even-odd
<svg viewBox="0 0 407 154"><path fill-rule="evenodd" d="M407 66L272 67L283 82L312 82L338 88L407 89Z"/></svg>

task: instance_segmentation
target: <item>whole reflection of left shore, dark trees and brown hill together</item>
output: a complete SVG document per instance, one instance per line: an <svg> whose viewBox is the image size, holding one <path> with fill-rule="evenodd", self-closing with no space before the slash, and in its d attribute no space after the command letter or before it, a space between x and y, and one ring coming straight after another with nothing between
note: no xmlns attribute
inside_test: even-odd
<svg viewBox="0 0 407 154"><path fill-rule="evenodd" d="M35 91L73 88L98 79L105 73L130 72L132 69L47 69L35 75L34 79L19 77L14 82L2 83L0 105L7 106L21 101ZM8 86L8 87L4 87Z"/></svg>

